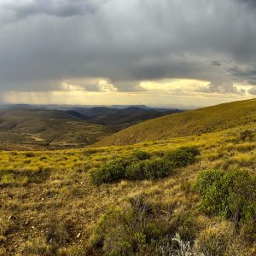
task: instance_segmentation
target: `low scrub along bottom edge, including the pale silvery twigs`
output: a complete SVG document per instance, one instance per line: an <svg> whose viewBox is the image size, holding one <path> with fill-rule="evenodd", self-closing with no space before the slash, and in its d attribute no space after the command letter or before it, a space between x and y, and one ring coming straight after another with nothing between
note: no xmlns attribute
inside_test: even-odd
<svg viewBox="0 0 256 256"><path fill-rule="evenodd" d="M198 255L192 247L194 240L189 241L198 230L194 214L183 212L172 219L171 212L163 212L143 195L123 207L110 208L96 225L88 254Z"/></svg>

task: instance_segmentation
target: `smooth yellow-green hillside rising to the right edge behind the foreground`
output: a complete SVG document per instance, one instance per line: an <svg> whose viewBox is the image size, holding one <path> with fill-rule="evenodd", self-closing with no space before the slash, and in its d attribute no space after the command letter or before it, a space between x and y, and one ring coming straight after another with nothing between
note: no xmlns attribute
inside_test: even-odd
<svg viewBox="0 0 256 256"><path fill-rule="evenodd" d="M256 99L230 102L148 120L119 131L96 143L96 146L125 145L201 135L255 122Z"/></svg>

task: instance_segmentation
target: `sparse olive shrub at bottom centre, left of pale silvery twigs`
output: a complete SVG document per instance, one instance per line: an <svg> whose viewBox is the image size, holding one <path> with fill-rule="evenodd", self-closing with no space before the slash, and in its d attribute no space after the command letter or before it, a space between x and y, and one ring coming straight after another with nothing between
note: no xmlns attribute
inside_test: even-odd
<svg viewBox="0 0 256 256"><path fill-rule="evenodd" d="M152 206L138 196L129 206L112 207L102 217L92 247L104 255L145 255L147 248L166 234L166 227L154 219Z"/></svg>

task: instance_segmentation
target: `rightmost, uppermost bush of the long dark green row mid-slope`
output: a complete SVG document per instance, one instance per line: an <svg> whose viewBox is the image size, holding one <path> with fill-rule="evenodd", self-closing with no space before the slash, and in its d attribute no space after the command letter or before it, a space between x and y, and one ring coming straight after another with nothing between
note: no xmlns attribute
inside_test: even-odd
<svg viewBox="0 0 256 256"><path fill-rule="evenodd" d="M195 156L199 154L198 148L183 147L177 150L167 151L164 158L174 167L184 167L195 163Z"/></svg>

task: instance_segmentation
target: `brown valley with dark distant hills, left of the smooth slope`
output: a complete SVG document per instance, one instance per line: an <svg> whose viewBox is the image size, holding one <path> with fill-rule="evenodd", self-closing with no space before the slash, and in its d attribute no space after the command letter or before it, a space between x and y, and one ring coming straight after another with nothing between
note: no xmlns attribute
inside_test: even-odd
<svg viewBox="0 0 256 256"><path fill-rule="evenodd" d="M143 120L179 112L139 107L49 108L14 105L0 109L0 148L84 147Z"/></svg>

